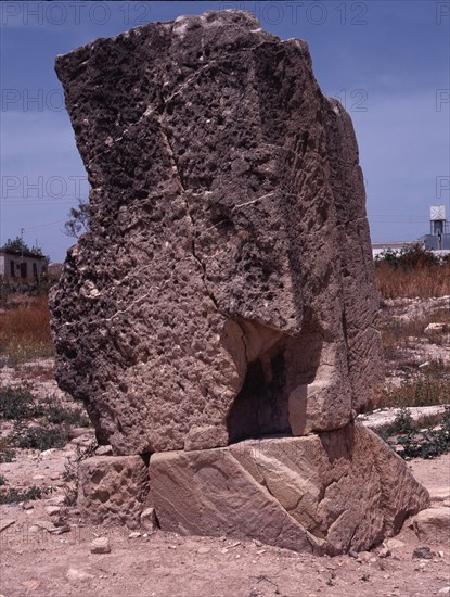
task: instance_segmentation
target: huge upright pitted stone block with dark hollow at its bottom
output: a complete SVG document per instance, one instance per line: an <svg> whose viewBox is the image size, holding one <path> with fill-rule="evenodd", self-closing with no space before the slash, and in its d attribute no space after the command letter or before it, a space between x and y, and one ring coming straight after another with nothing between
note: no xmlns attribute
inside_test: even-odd
<svg viewBox="0 0 450 597"><path fill-rule="evenodd" d="M59 56L91 231L52 295L60 385L116 454L343 428L383 378L351 122L248 13Z"/></svg>

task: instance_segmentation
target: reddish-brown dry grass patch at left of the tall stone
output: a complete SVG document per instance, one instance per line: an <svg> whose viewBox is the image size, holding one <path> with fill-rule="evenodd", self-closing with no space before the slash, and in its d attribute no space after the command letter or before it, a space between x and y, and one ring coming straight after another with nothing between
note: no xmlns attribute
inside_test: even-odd
<svg viewBox="0 0 450 597"><path fill-rule="evenodd" d="M0 359L16 364L53 355L47 296L0 314Z"/></svg>

